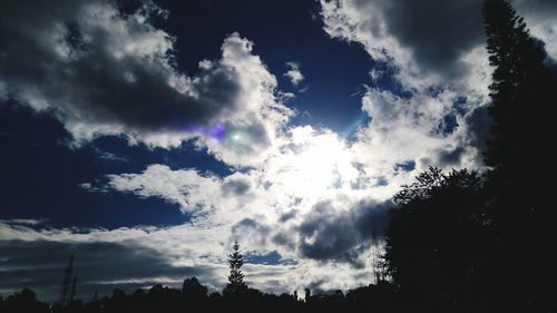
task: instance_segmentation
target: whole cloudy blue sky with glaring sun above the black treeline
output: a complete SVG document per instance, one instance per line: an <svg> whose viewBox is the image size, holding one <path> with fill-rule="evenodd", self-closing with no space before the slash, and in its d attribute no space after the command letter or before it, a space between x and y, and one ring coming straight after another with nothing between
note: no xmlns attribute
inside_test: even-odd
<svg viewBox="0 0 557 313"><path fill-rule="evenodd" d="M480 0L2 1L0 294L219 291L235 239L265 292L372 283L400 186L483 168L485 40Z"/></svg>

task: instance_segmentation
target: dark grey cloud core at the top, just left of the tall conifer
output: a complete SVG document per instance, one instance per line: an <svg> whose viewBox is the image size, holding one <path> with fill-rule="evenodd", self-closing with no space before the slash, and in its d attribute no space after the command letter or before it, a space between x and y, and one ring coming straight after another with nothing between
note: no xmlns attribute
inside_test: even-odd
<svg viewBox="0 0 557 313"><path fill-rule="evenodd" d="M424 68L458 75L462 52L483 42L482 0L398 0L388 27Z"/></svg>

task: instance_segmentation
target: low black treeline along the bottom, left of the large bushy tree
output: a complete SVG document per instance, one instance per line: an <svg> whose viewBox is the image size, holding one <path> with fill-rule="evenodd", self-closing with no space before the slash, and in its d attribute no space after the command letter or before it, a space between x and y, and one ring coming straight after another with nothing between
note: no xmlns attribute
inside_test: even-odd
<svg viewBox="0 0 557 313"><path fill-rule="evenodd" d="M256 312L361 312L362 307L373 307L373 312L393 313L403 312L398 310L392 286L383 282L379 285L370 285L349 291L344 296L342 291L329 294L311 295L306 288L306 301L299 301L295 296L283 293L281 295L260 292L255 288L245 288L240 293L221 295L212 293L203 303L192 303L185 299L193 290L199 286L195 278L186 280L185 292L179 290L155 285L146 291L138 288L131 294L115 290L110 296L100 300L81 303L74 301L68 305L56 303L48 305L38 302L35 293L23 290L20 293L9 295L4 299L4 305L0 306L2 313L120 313L120 312L192 312L192 313L217 313L232 309L242 310L245 313ZM193 290L190 287L194 287ZM203 286L203 285L201 285ZM204 290L204 287L202 287ZM1 304L1 302L0 302Z"/></svg>

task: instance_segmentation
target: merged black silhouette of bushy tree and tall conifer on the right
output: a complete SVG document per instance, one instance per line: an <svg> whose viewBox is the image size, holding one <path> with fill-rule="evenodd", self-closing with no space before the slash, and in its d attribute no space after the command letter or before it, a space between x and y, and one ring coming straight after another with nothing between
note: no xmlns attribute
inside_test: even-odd
<svg viewBox="0 0 557 313"><path fill-rule="evenodd" d="M385 261L409 303L428 312L557 312L557 80L507 0L486 0L494 120L486 175L437 168L394 196Z"/></svg>

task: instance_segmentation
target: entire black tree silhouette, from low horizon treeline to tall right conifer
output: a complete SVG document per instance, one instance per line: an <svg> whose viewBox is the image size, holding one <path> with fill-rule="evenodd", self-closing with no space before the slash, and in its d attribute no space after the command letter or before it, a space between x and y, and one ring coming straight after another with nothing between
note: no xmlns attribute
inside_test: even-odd
<svg viewBox="0 0 557 313"><path fill-rule="evenodd" d="M182 291L148 291L67 306L38 302L30 290L0 299L1 312L557 312L554 119L557 75L507 0L486 0L483 21L492 119L489 170L430 167L394 195L374 284L312 295L248 287L237 243L222 293L197 278Z"/></svg>

